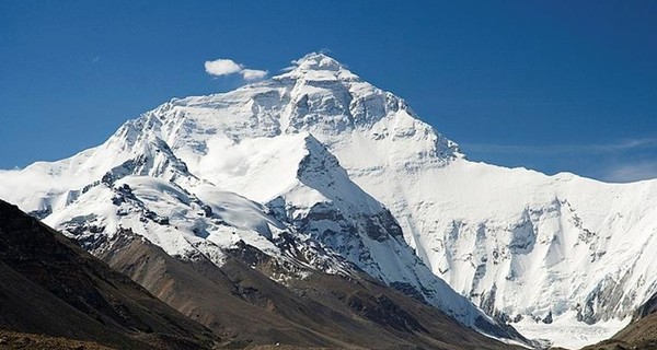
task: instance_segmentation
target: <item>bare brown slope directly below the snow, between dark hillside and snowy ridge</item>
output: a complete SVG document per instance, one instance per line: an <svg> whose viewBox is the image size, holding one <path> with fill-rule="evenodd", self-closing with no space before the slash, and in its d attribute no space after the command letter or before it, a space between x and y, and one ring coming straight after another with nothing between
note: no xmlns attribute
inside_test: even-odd
<svg viewBox="0 0 657 350"><path fill-rule="evenodd" d="M365 276L312 273L284 287L268 277L280 267L266 254L250 246L228 254L219 268L209 260L171 258L143 240L123 240L102 257L191 318L234 339L232 345L509 348Z"/></svg>

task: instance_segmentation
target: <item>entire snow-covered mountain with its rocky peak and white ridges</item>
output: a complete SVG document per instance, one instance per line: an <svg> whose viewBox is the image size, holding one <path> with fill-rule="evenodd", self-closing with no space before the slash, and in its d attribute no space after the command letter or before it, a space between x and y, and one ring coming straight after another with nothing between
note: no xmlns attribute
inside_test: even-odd
<svg viewBox="0 0 657 350"><path fill-rule="evenodd" d="M242 241L297 277L357 267L499 336L453 289L527 336L579 346L657 292L656 184L470 162L403 100L310 54L174 98L70 159L0 172L0 198L92 252L129 229L221 265Z"/></svg>

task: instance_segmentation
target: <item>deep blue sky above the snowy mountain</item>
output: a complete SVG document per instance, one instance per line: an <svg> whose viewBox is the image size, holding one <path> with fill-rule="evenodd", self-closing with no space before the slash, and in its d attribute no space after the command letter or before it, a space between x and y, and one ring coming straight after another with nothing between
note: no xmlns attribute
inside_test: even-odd
<svg viewBox="0 0 657 350"><path fill-rule="evenodd" d="M174 2L174 1L171 1ZM657 177L656 1L0 1L0 168L330 50L472 160Z"/></svg>

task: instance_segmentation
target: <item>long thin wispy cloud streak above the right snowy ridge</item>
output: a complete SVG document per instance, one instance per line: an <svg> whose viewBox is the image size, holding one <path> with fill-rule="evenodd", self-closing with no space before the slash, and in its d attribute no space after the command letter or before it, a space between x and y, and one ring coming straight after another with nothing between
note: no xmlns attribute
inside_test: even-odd
<svg viewBox="0 0 657 350"><path fill-rule="evenodd" d="M601 154L619 153L631 150L657 148L657 138L622 140L615 143L596 144L552 144L552 145L527 145L527 144L491 144L491 143L465 143L461 148L468 152L488 154Z"/></svg>

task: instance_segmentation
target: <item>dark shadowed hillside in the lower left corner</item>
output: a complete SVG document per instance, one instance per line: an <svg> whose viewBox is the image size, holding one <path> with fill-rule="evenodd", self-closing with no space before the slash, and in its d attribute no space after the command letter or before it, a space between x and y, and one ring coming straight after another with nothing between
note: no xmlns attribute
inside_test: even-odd
<svg viewBox="0 0 657 350"><path fill-rule="evenodd" d="M215 340L200 324L4 201L0 277L0 328L130 349L209 349Z"/></svg>

